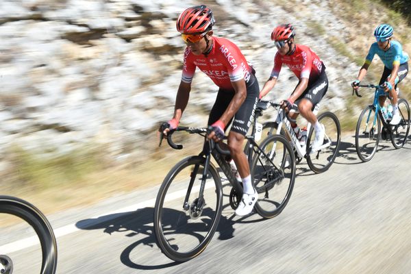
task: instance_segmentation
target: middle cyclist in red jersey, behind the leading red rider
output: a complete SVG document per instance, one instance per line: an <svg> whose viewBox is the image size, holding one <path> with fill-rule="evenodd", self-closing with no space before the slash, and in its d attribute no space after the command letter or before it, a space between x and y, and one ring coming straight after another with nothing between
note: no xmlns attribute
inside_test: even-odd
<svg viewBox="0 0 411 274"><path fill-rule="evenodd" d="M260 98L274 88L282 65L288 66L299 82L290 97L283 101L283 106L286 110L292 110L292 106L297 105L298 112L314 125L315 138L311 151L316 151L323 145L325 129L312 110L327 92L328 79L321 59L309 47L295 44L294 36L295 30L290 24L279 25L271 33L271 40L275 42L278 51L275 54L273 71L260 92ZM290 114L292 119L297 118L298 112ZM297 124L291 123L291 126L295 128Z"/></svg>

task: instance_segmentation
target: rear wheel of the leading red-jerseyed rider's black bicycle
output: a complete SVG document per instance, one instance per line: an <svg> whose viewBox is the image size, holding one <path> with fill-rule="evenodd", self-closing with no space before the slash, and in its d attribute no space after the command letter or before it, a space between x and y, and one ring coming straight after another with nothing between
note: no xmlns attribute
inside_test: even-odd
<svg viewBox="0 0 411 274"><path fill-rule="evenodd" d="M294 188L295 169L294 151L284 136L275 134L261 143L251 164L258 214L273 218L284 210Z"/></svg>

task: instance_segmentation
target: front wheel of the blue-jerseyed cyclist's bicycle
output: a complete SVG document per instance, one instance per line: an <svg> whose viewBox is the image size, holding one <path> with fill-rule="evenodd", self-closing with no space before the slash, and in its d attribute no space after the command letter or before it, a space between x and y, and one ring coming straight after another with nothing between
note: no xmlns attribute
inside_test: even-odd
<svg viewBox="0 0 411 274"><path fill-rule="evenodd" d="M374 119L376 122L374 123ZM356 127L356 150L362 162L371 160L377 151L381 123L373 105L362 110Z"/></svg>

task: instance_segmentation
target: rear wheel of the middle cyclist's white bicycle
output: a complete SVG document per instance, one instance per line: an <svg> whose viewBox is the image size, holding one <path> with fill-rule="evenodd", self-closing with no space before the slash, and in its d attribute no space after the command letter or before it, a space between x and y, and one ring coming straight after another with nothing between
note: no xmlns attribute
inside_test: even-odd
<svg viewBox="0 0 411 274"><path fill-rule="evenodd" d="M321 113L318 116L318 121L319 123L325 124L325 137L328 138L331 144L329 147L325 147L325 149L308 154L307 164L314 173L323 173L327 171L334 163L334 160L336 160L336 156L340 149L341 127L336 114L332 112ZM307 136L307 147L310 147L313 133L314 127L311 127ZM319 160L319 162L317 162L317 160Z"/></svg>

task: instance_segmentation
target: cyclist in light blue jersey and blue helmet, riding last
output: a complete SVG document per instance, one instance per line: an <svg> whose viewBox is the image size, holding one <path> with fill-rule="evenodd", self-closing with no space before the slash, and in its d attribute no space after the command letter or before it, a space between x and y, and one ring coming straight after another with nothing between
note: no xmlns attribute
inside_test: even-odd
<svg viewBox="0 0 411 274"><path fill-rule="evenodd" d="M358 89L358 85L365 77L367 70L374 55L377 54L384 63L384 72L382 73L379 85L384 86L384 91L388 92L393 104L393 119L390 125L398 125L401 117L398 111L397 84L408 74L408 55L403 52L402 46L398 41L392 40L394 33L393 27L387 24L379 25L375 28L374 36L377 42L374 42L366 55L365 62L362 65L358 77L351 83L353 88ZM384 106L386 93L379 96L379 105Z"/></svg>

